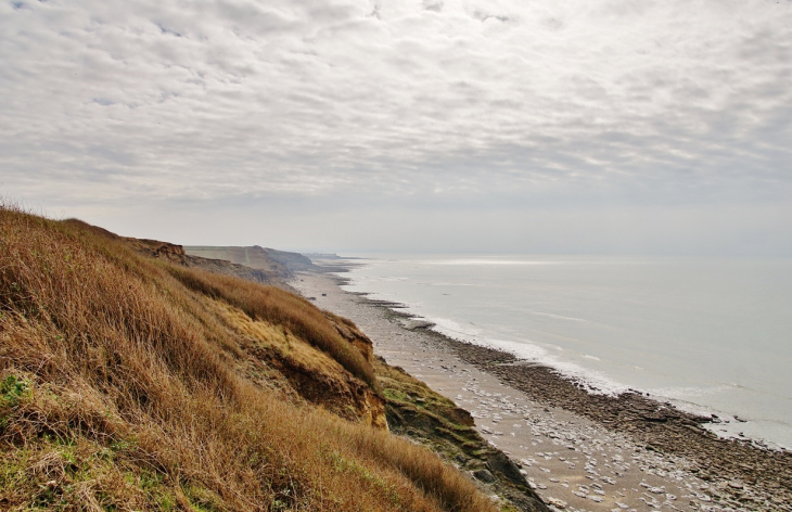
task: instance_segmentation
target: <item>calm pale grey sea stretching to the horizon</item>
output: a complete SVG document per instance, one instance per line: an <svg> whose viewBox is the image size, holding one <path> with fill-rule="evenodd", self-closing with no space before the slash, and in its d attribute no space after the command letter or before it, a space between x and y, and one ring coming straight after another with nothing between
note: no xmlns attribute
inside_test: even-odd
<svg viewBox="0 0 792 512"><path fill-rule="evenodd" d="M346 290L405 304L444 334L792 448L790 259L347 256L360 259Z"/></svg>

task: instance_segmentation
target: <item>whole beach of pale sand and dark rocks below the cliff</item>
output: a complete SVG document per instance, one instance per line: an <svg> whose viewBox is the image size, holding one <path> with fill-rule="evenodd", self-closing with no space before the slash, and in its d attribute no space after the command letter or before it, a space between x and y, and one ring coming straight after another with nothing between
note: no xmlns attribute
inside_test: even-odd
<svg viewBox="0 0 792 512"><path fill-rule="evenodd" d="M470 411L557 509L792 510L789 452L718 438L700 426L711 419L638 393L591 393L551 368L438 334L398 304L343 283L320 271L302 272L292 285L355 321L388 364Z"/></svg>

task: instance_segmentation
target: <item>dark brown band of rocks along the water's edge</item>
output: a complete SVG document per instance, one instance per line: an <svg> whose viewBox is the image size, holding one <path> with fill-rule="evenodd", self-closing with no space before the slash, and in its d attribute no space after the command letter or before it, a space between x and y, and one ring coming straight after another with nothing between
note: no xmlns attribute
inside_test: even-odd
<svg viewBox="0 0 792 512"><path fill-rule="evenodd" d="M792 453L756 446L749 439L725 439L701 425L713 421L636 392L592 394L552 368L521 361L513 355L427 332L461 360L497 376L537 402L589 418L627 433L647 450L684 457L687 471L715 483L717 495L734 507L769 510L792 504Z"/></svg>

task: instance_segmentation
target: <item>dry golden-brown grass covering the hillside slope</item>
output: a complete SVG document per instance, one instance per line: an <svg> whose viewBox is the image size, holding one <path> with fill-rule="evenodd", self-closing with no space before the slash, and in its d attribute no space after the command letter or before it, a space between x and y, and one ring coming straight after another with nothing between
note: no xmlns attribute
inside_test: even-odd
<svg viewBox="0 0 792 512"><path fill-rule="evenodd" d="M0 509L494 510L427 450L246 381L207 300L373 382L298 297L0 207Z"/></svg>

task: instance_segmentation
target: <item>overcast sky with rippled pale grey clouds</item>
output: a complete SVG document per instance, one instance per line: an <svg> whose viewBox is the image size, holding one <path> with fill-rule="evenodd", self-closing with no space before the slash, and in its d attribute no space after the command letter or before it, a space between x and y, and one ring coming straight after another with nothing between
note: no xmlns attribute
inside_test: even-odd
<svg viewBox="0 0 792 512"><path fill-rule="evenodd" d="M186 245L792 256L790 0L0 0L0 196Z"/></svg>

